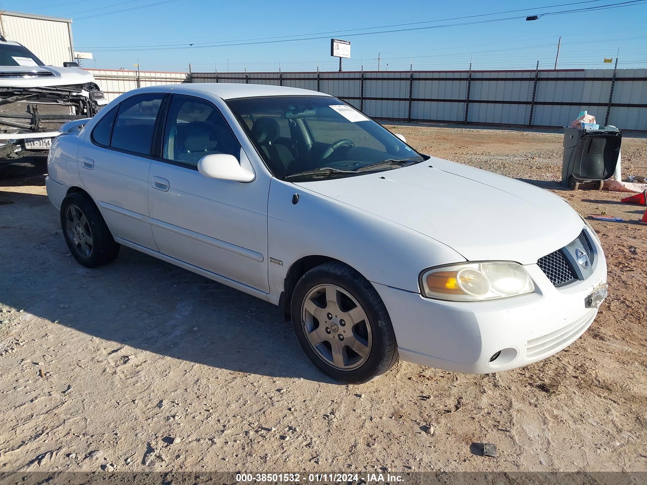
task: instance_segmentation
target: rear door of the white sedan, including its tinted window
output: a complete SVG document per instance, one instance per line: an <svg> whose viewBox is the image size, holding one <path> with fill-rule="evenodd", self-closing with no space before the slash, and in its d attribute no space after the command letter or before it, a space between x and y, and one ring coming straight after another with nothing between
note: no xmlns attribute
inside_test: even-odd
<svg viewBox="0 0 647 485"><path fill-rule="evenodd" d="M81 180L113 235L157 250L149 224L148 173L164 93L131 96L105 114L79 149Z"/></svg>

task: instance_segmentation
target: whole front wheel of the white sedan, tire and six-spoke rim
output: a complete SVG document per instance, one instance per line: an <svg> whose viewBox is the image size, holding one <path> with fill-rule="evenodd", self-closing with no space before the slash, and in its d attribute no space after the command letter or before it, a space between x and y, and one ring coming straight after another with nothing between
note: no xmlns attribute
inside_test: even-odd
<svg viewBox="0 0 647 485"><path fill-rule="evenodd" d="M373 285L342 263L324 263L299 280L292 325L305 352L336 380L360 384L398 360L391 319Z"/></svg>

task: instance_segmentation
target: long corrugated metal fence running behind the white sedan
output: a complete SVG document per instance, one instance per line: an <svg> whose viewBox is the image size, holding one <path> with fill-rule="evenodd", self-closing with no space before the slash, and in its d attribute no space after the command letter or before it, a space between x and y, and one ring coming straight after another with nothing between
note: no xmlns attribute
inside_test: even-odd
<svg viewBox="0 0 647 485"><path fill-rule="evenodd" d="M94 71L109 96L135 71ZM112 78L104 79L104 74ZM115 81L114 72L121 72ZM130 76L130 78L128 77ZM647 131L647 69L140 72L140 85L171 82L252 83L333 94L373 118L410 122L561 127L580 111L600 125ZM146 78L146 79L144 79Z"/></svg>

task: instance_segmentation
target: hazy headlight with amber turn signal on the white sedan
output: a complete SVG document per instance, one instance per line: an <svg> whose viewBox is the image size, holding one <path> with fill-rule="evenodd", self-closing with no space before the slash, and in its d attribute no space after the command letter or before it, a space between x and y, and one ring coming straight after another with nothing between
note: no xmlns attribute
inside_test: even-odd
<svg viewBox="0 0 647 485"><path fill-rule="evenodd" d="M459 263L424 270L422 296L448 301L483 301L534 292L518 263Z"/></svg>

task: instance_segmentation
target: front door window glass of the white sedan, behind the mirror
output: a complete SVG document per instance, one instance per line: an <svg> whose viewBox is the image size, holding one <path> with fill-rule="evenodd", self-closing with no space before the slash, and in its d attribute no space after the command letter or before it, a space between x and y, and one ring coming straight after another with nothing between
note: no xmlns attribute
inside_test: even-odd
<svg viewBox="0 0 647 485"><path fill-rule="evenodd" d="M241 146L212 103L192 96L171 99L162 158L197 166L205 155L225 153L240 161Z"/></svg>

